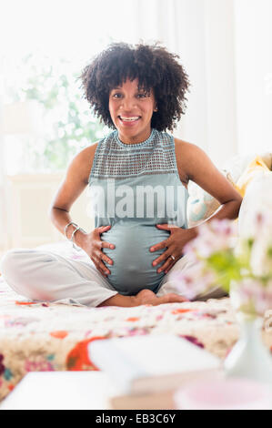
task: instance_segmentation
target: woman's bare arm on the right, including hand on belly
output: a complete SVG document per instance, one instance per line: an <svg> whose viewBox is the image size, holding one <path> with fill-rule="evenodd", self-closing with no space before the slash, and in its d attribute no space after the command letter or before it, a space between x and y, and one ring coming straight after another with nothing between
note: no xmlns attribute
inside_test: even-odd
<svg viewBox="0 0 272 428"><path fill-rule="evenodd" d="M236 219L242 198L227 181L227 178L218 171L206 153L194 144L186 143L177 138L175 138L175 150L179 178L184 185L186 186L190 179L195 181L221 204L216 213L206 221ZM196 238L197 226L191 229L180 229L167 224L156 225L156 227L170 232L169 238L150 248L151 252L166 249L163 254L153 260L153 266L163 262L157 272L165 271L167 273L182 257L186 243ZM173 257L175 260L172 259Z"/></svg>

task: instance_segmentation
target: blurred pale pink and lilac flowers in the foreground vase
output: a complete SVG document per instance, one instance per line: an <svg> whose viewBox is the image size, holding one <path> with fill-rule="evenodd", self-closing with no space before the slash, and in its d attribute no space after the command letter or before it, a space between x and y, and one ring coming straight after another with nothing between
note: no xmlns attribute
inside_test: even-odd
<svg viewBox="0 0 272 428"><path fill-rule="evenodd" d="M235 290L237 310L264 315L272 309L272 217L257 213L248 236L237 237L237 223L214 219L199 226L185 253L194 261L185 271L174 271L180 292L188 299L220 285ZM234 245L236 242L236 245Z"/></svg>

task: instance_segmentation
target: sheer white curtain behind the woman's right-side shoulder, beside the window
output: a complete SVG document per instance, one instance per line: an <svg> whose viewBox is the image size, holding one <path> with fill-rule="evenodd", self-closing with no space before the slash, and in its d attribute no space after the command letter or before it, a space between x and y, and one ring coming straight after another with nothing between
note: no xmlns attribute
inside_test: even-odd
<svg viewBox="0 0 272 428"><path fill-rule="evenodd" d="M138 0L138 33L180 56L191 88L175 135L222 165L237 153L233 0Z"/></svg>

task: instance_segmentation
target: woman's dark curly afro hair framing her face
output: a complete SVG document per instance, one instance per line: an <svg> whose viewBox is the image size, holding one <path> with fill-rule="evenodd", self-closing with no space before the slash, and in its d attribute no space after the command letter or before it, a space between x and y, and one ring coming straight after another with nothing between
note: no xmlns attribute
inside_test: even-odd
<svg viewBox="0 0 272 428"><path fill-rule="evenodd" d="M151 127L173 130L186 109L188 76L177 59L158 43L152 46L114 43L97 55L80 76L85 98L107 127L115 128L108 109L109 93L126 79L138 79L139 88L153 89L157 112Z"/></svg>

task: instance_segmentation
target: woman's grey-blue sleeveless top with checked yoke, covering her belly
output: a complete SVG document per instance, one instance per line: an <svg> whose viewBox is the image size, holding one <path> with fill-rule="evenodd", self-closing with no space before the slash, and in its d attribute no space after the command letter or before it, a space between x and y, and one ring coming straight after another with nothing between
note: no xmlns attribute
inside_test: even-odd
<svg viewBox="0 0 272 428"><path fill-rule="evenodd" d="M117 131L98 142L88 180L89 216L96 228L111 225L102 240L115 244L103 249L113 260L107 280L123 295L143 289L156 292L165 275L152 262L165 250L150 247L169 237L156 224L186 228L187 190L180 181L175 141L152 129L142 143L125 144Z"/></svg>

